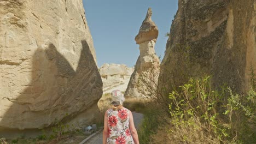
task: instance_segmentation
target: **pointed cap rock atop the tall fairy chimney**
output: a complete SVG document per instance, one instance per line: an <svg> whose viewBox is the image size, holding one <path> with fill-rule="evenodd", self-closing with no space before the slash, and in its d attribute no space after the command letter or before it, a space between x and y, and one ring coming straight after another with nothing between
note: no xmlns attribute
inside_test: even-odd
<svg viewBox="0 0 256 144"><path fill-rule="evenodd" d="M148 8L148 12L145 20L142 22L141 28L139 28L139 33L135 37L136 44L141 44L146 41L154 40L158 38L158 27L155 22L151 19L152 9Z"/></svg>

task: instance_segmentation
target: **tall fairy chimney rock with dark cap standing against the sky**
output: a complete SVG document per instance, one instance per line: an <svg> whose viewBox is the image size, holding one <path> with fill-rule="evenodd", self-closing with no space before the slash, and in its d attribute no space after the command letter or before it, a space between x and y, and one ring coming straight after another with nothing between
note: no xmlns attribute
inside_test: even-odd
<svg viewBox="0 0 256 144"><path fill-rule="evenodd" d="M139 44L139 57L135 70L131 75L125 97L150 98L157 85L159 76L159 57L155 54L155 42L158 38L158 28L151 19L152 10L148 9L135 41Z"/></svg>

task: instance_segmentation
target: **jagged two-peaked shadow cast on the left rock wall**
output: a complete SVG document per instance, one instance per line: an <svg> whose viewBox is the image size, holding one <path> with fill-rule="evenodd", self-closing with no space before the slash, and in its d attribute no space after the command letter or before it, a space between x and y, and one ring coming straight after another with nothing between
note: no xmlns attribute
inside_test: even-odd
<svg viewBox="0 0 256 144"><path fill-rule="evenodd" d="M75 117L79 127L92 120L93 116L86 115L86 111L98 111L102 81L88 43L81 43L83 49L76 70L55 45L36 50L31 61L31 82L15 99L4 98L13 104L0 122L0 137L47 128Z"/></svg>

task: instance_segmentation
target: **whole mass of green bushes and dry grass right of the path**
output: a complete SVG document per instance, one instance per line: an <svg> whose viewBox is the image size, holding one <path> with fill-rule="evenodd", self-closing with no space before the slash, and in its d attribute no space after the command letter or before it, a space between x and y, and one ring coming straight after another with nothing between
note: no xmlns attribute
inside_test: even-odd
<svg viewBox="0 0 256 144"><path fill-rule="evenodd" d="M169 95L165 105L146 105L138 130L141 143L256 143L256 92L216 91L211 77L190 79ZM169 117L169 118L166 118Z"/></svg>

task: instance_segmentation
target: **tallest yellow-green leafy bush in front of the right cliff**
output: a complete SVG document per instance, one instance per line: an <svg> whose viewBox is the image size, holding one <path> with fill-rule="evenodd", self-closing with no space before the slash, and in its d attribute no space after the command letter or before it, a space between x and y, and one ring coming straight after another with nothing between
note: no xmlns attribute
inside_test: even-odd
<svg viewBox="0 0 256 144"><path fill-rule="evenodd" d="M223 141L224 137L228 137L226 128L218 122L217 107L223 93L211 89L210 76L205 76L202 79L190 79L180 88L180 91L172 91L169 95L171 99L169 109L174 129L197 132L202 130L205 131L204 135L212 135L214 140L218 138L220 141ZM172 130L170 133L175 132ZM198 140L206 139L200 135L184 133L180 137L185 143L193 143L193 137L197 137ZM210 141L211 139L208 140L208 142Z"/></svg>

